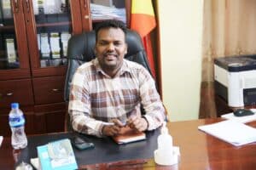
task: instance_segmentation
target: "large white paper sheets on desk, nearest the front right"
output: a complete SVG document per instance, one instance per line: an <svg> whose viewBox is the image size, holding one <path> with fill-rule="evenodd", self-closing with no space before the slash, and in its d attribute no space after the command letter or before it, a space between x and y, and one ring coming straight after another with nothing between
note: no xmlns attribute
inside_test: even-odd
<svg viewBox="0 0 256 170"><path fill-rule="evenodd" d="M227 120L199 126L198 129L236 146L256 142L256 128L241 122Z"/></svg>

